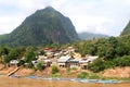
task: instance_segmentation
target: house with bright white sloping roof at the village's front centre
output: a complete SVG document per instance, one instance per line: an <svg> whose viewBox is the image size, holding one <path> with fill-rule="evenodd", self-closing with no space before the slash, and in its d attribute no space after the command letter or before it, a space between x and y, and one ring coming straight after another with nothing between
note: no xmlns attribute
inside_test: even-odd
<svg viewBox="0 0 130 87"><path fill-rule="evenodd" d="M68 61L72 59L72 57L61 57L58 60L57 60L57 65L58 66L63 66L63 67L67 67L68 66Z"/></svg>

